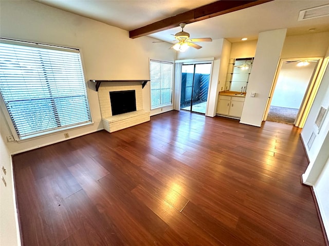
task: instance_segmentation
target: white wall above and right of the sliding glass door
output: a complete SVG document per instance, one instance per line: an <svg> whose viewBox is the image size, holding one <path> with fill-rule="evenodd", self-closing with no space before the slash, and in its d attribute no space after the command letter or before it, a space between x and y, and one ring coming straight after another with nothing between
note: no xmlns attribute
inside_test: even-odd
<svg viewBox="0 0 329 246"><path fill-rule="evenodd" d="M207 57L215 57L212 66L212 74L211 80L209 83L209 96L208 96L208 107L207 107L207 116L215 116L216 115L216 107L217 107L217 96L218 96L218 80L219 80L219 72L222 58L222 49L223 49L224 38L212 40L212 42L200 43L203 46L202 49L193 49L189 48L185 52L177 53L177 59L197 59L197 58L207 58Z"/></svg>

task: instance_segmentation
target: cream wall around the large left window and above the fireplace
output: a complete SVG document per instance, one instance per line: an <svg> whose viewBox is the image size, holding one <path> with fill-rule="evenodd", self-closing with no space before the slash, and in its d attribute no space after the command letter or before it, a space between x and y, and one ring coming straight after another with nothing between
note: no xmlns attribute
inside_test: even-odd
<svg viewBox="0 0 329 246"><path fill-rule="evenodd" d="M33 1L1 1L0 25L2 37L79 48L86 80L149 79L150 58L175 59L170 44L152 43L149 37L131 39L125 30ZM68 131L71 137L103 128L98 93L94 85L88 83L88 87L94 125ZM143 107L150 110L150 83L143 96ZM1 134L11 135L7 127ZM10 153L16 153L61 140L65 140L63 133L6 144Z"/></svg>

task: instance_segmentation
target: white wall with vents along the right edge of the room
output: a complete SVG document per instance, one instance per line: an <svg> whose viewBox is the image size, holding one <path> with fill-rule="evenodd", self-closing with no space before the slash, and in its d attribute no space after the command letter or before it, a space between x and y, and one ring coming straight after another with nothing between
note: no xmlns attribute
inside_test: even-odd
<svg viewBox="0 0 329 246"><path fill-rule="evenodd" d="M329 47L326 51L325 60L328 58ZM301 132L301 138L309 158L309 165L302 175L303 182L313 186L324 228L327 237L329 237L329 113L324 118L319 132L314 124L321 106L329 110L329 67L326 68L318 93ZM312 147L308 149L307 142L312 132L316 134L316 137Z"/></svg>

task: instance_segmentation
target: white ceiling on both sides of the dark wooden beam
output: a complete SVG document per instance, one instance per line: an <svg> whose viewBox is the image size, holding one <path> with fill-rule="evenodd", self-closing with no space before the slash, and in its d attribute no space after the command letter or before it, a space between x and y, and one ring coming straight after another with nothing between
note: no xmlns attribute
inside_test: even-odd
<svg viewBox="0 0 329 246"><path fill-rule="evenodd" d="M158 20L207 5L216 0L35 0L52 7L89 17L130 31ZM258 33L287 28L287 35L329 31L329 16L298 21L300 10L329 4L329 0L275 0L247 9L188 24L184 31L192 38L227 38L239 42L241 37L257 39ZM149 36L173 40L180 28Z"/></svg>

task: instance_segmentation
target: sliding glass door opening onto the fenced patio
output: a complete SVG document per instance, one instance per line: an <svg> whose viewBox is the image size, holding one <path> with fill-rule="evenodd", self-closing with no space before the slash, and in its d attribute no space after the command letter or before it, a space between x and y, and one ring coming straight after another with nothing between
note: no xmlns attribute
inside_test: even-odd
<svg viewBox="0 0 329 246"><path fill-rule="evenodd" d="M180 109L206 114L211 63L181 67Z"/></svg>

